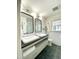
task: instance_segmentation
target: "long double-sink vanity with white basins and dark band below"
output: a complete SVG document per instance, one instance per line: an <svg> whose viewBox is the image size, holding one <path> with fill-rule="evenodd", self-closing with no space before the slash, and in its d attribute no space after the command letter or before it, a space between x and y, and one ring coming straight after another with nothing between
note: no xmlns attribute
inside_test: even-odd
<svg viewBox="0 0 79 59"><path fill-rule="evenodd" d="M21 39L23 59L35 59L48 45L48 34L37 33Z"/></svg>

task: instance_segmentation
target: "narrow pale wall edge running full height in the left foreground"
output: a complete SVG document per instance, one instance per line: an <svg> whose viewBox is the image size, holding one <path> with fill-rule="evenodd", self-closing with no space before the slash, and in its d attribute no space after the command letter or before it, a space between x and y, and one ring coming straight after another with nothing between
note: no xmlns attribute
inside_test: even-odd
<svg viewBox="0 0 79 59"><path fill-rule="evenodd" d="M21 0L17 0L17 59L22 59L21 39L20 39L20 3Z"/></svg>

